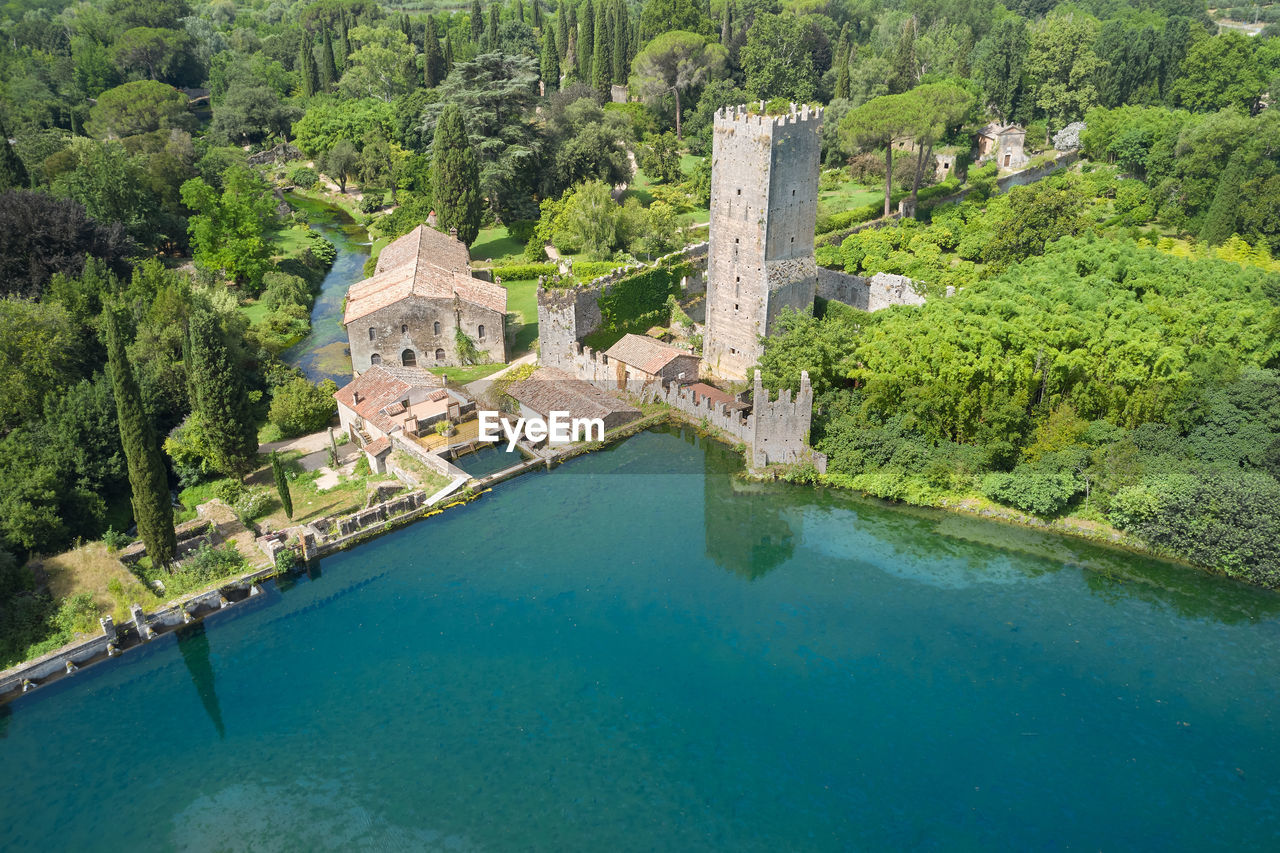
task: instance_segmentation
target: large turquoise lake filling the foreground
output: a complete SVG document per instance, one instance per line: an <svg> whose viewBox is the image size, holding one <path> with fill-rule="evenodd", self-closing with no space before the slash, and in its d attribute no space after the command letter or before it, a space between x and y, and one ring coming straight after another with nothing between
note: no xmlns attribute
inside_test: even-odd
<svg viewBox="0 0 1280 853"><path fill-rule="evenodd" d="M6 706L6 849L1275 849L1280 599L645 433Z"/></svg>

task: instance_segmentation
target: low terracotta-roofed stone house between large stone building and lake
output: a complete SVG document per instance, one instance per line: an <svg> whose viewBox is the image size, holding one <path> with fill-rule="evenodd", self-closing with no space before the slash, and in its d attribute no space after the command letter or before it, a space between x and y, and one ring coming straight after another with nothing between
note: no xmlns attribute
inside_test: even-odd
<svg viewBox="0 0 1280 853"><path fill-rule="evenodd" d="M475 402L444 387L444 379L421 368L375 364L339 388L338 423L381 474L397 434L420 435L436 421L458 421Z"/></svg>

